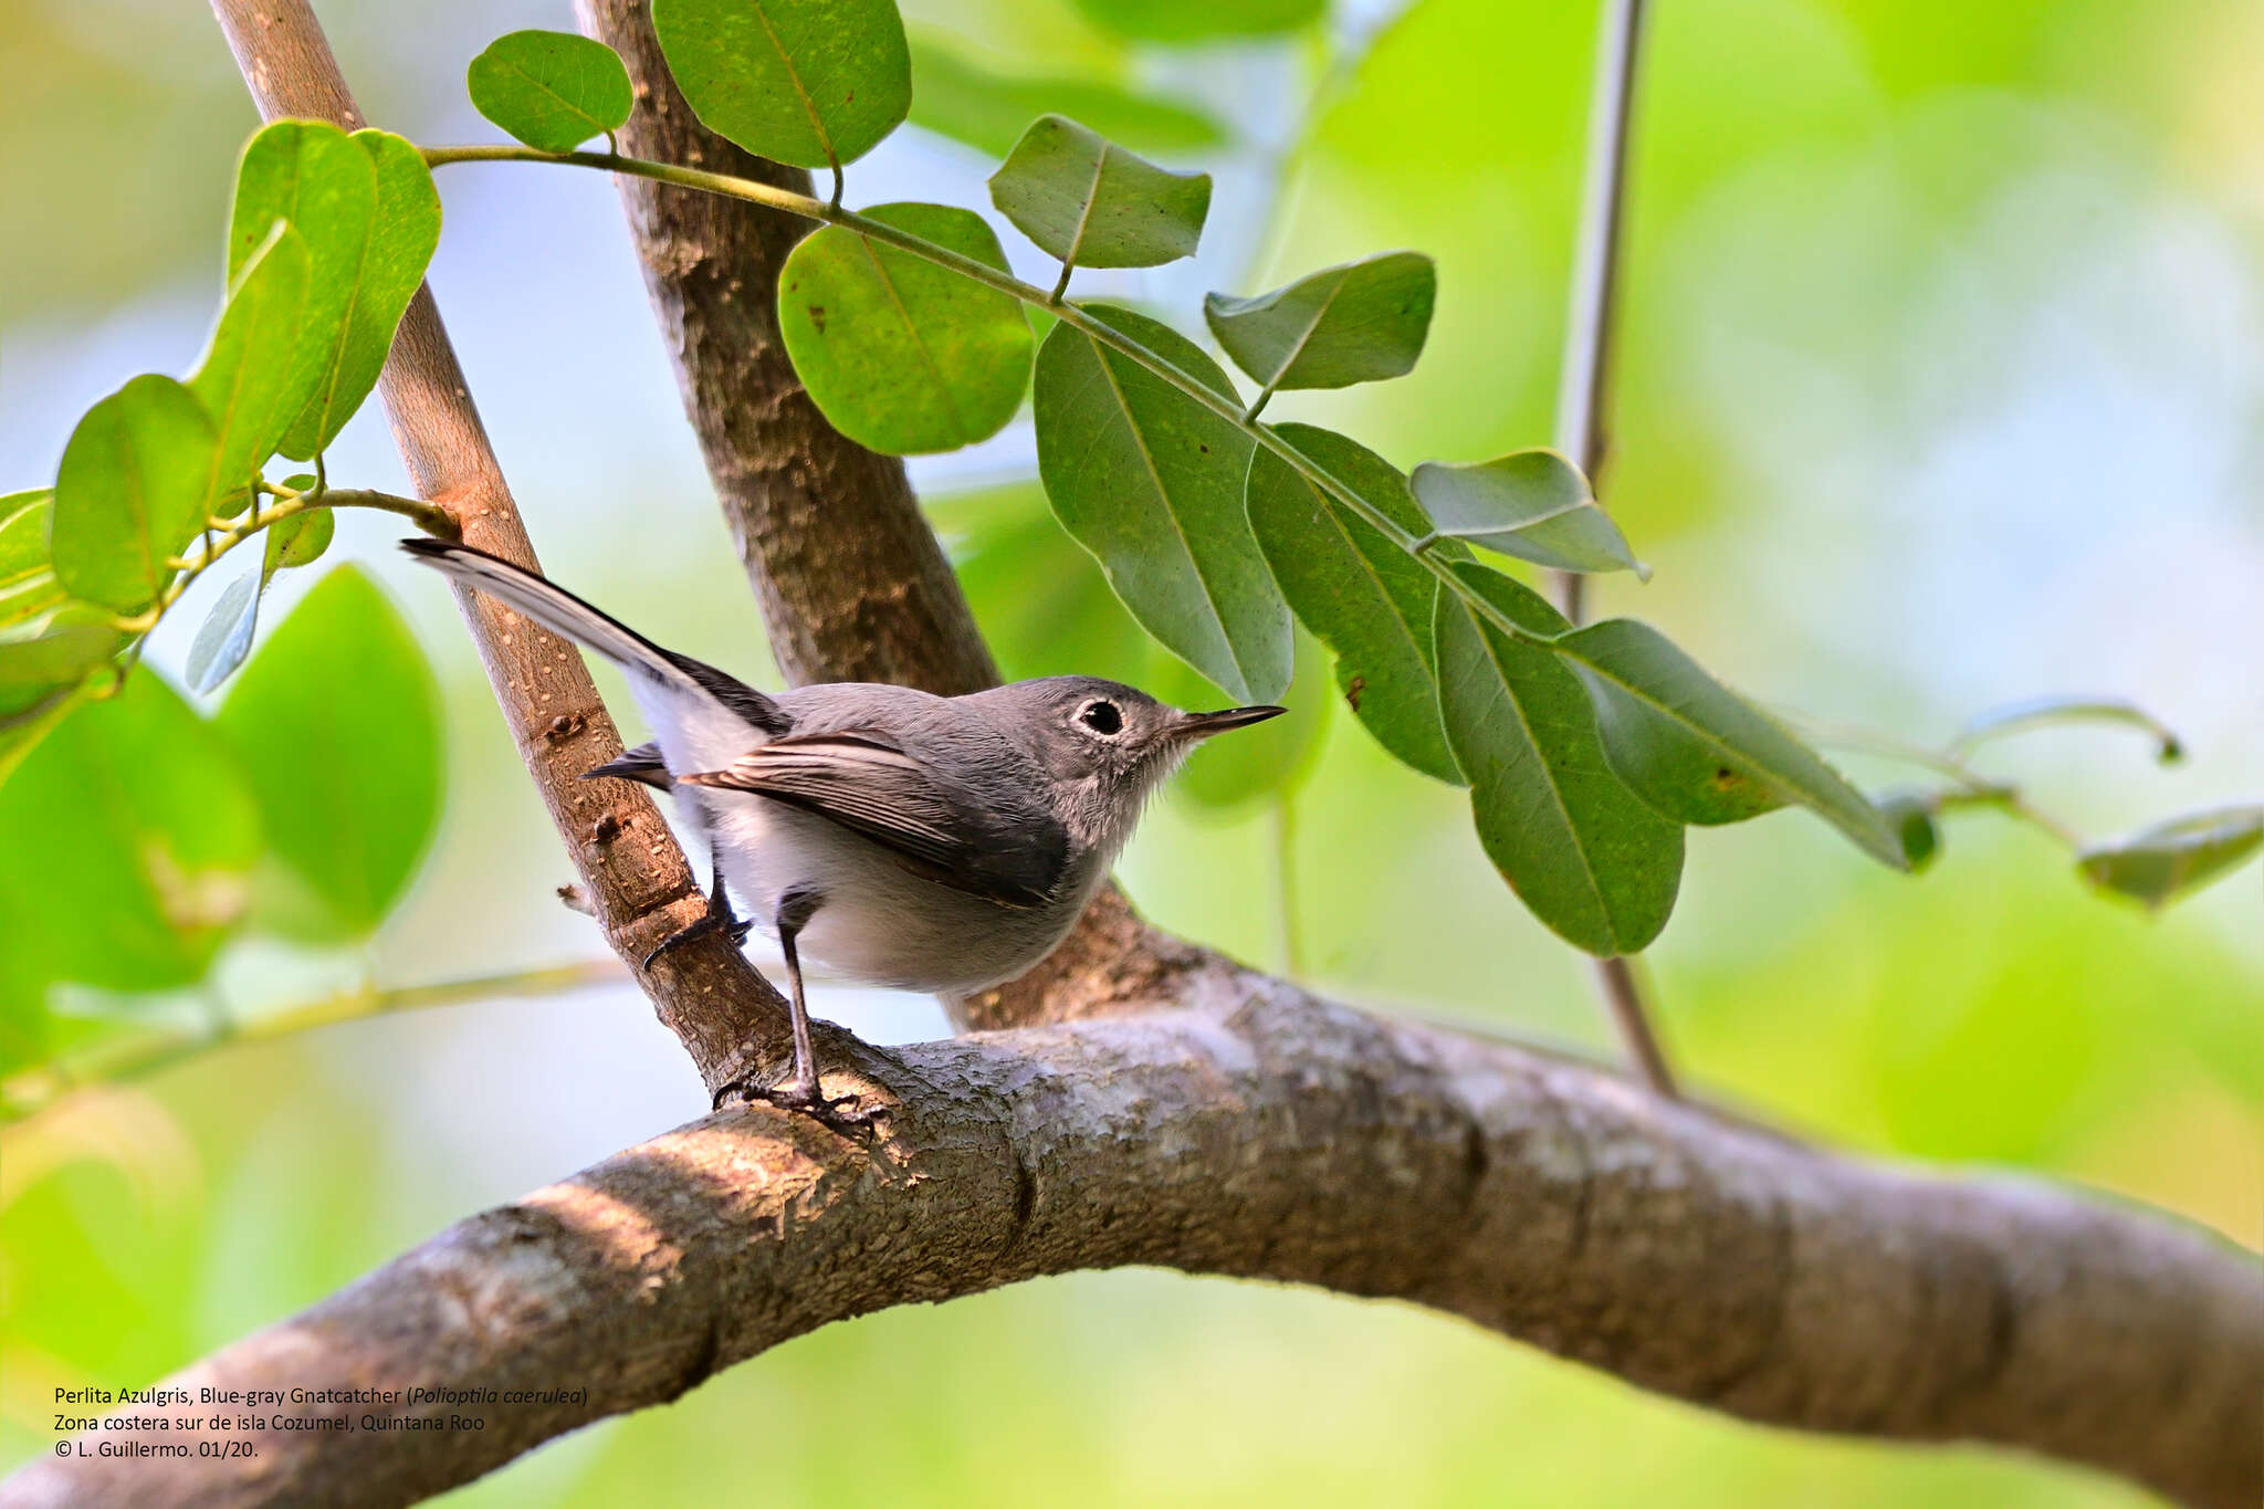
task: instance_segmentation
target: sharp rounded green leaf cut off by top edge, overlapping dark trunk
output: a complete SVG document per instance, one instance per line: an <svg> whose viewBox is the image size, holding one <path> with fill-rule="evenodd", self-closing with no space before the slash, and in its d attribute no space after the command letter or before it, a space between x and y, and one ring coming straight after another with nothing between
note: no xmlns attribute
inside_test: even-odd
<svg viewBox="0 0 2264 1509"><path fill-rule="evenodd" d="M774 163L854 163L912 106L894 0L652 0L652 29L700 122Z"/></svg>

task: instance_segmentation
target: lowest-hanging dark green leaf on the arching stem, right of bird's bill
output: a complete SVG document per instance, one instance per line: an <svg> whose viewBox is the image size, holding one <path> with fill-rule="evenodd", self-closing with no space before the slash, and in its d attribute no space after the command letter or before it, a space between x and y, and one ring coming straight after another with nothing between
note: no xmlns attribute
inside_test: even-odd
<svg viewBox="0 0 2264 1509"><path fill-rule="evenodd" d="M1453 572L1533 633L1571 627L1497 570L1458 561ZM1637 952L1675 909L1682 828L1612 771L1580 679L1546 645L1451 593L1438 595L1435 631L1440 717L1485 857L1573 948Z"/></svg>

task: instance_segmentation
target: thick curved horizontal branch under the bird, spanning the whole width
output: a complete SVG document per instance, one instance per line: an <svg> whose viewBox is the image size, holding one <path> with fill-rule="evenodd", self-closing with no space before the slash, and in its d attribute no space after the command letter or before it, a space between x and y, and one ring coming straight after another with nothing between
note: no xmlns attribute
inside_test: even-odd
<svg viewBox="0 0 2264 1509"><path fill-rule="evenodd" d="M1750 1421L2264 1493L2264 1267L2212 1235L1834 1158L1200 955L1155 984L1180 1009L865 1050L876 1131L711 1115L170 1380L584 1396L285 1405L251 1459L41 1459L0 1504L410 1502L833 1319L1132 1262L1408 1299Z"/></svg>

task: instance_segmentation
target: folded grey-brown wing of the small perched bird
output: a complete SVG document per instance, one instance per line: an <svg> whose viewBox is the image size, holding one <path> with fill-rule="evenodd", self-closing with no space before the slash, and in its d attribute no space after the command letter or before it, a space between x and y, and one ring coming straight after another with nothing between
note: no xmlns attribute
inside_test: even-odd
<svg viewBox="0 0 2264 1509"><path fill-rule="evenodd" d="M743 753L686 785L756 792L881 844L908 869L1005 907L1053 898L1069 871L1069 833L1035 814L1003 814L885 733L801 733Z"/></svg>

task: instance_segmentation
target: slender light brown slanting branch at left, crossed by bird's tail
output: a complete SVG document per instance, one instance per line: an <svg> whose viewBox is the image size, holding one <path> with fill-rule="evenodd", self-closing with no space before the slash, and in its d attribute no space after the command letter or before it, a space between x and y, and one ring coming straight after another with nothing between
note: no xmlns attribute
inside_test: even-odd
<svg viewBox="0 0 2264 1509"><path fill-rule="evenodd" d="M362 124L306 0L213 0L213 14L263 118ZM401 321L378 394L417 495L446 507L464 541L537 568L430 287L417 290ZM777 1050L786 1004L722 937L670 950L650 971L641 966L706 905L684 851L643 787L580 781L620 751L620 735L573 645L494 597L460 588L457 606L607 941L636 971L659 1018L684 1038L709 1088L731 1084L765 1050Z"/></svg>

